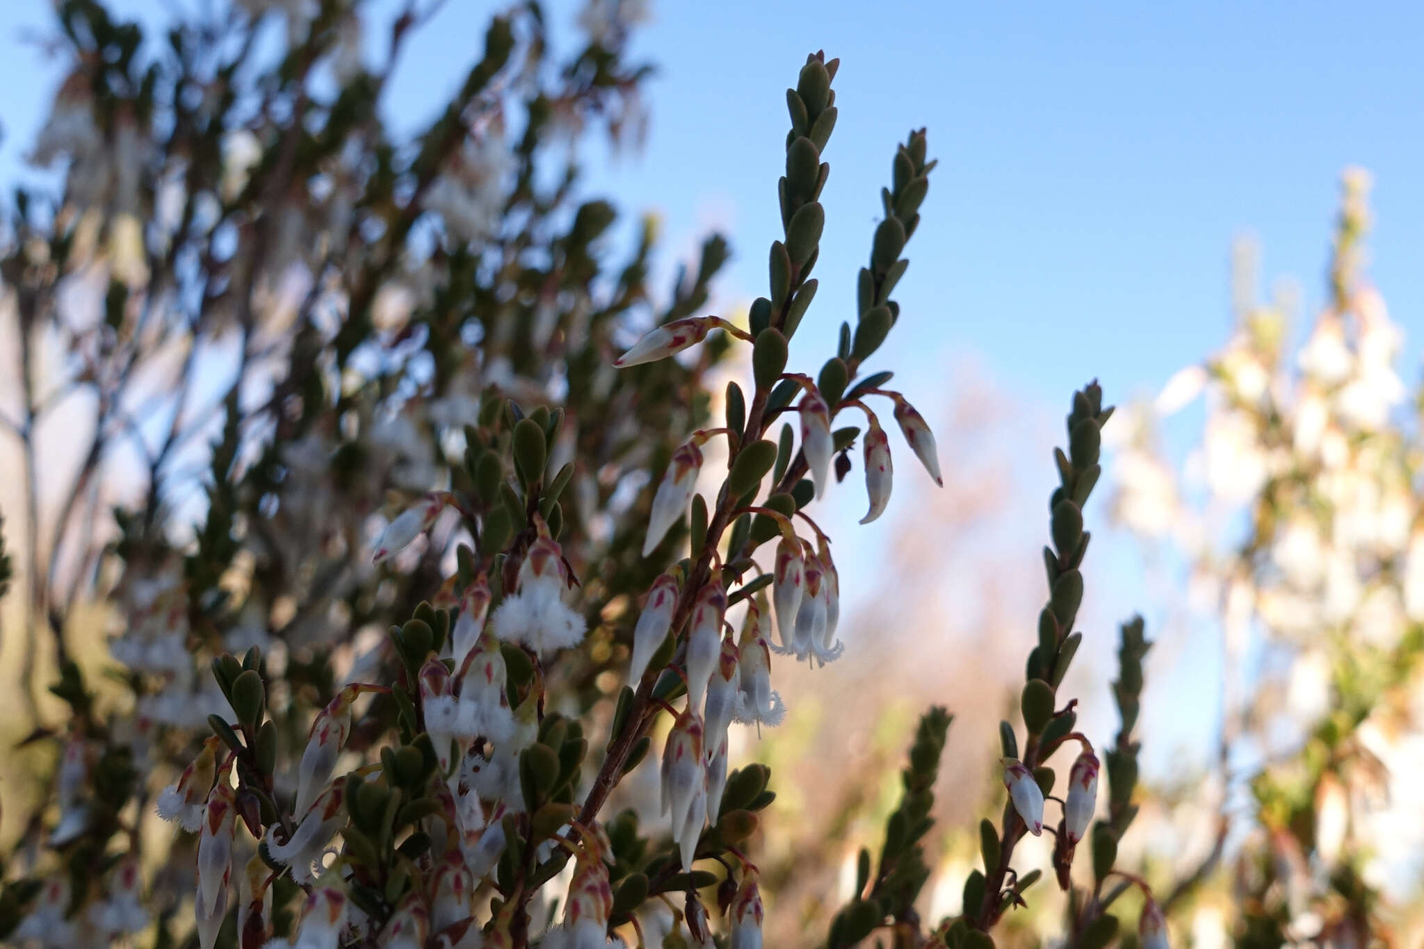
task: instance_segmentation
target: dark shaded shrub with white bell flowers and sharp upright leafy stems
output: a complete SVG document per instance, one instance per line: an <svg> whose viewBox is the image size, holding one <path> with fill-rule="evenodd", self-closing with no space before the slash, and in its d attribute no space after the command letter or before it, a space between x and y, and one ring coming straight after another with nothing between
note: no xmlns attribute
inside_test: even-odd
<svg viewBox="0 0 1424 949"><path fill-rule="evenodd" d="M63 158L64 185L19 193L0 260L26 369L4 424L26 460L27 746L58 750L7 854L4 938L762 945L775 783L732 767L728 734L780 721L773 663L842 656L842 578L809 505L859 460L863 521L880 516L901 440L941 481L924 418L873 364L934 161L923 131L894 151L854 324L815 376L789 369L837 61L807 57L786 92L766 296L706 316L726 243L658 297L652 226L612 263L615 212L578 186L585 134L641 121L639 16L595 0L567 58L538 6L496 17L406 141L379 104L416 7L373 70L343 3L245 3L161 50L97 3L60 6L73 74L33 158ZM265 57L276 18L286 43ZM739 381L713 418L701 384L722 361ZM1034 845L1075 945L1116 936L1132 886L1139 939L1165 945L1146 884L1115 866L1141 620L1101 760L1059 694L1111 414L1096 384L1074 394L1022 723L1000 730L1004 812L963 911L914 908L950 727L931 709L879 855L809 942L993 945L1038 878L1014 868ZM83 442L57 492L38 474L54 425ZM107 654L77 625L91 599ZM63 713L30 693L50 663ZM639 820L639 768L658 768L665 822Z"/></svg>

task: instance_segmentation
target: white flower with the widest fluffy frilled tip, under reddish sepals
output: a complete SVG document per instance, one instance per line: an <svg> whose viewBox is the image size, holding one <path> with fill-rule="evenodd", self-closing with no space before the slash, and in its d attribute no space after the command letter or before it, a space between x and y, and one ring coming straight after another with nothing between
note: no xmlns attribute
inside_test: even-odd
<svg viewBox="0 0 1424 949"><path fill-rule="evenodd" d="M564 552L538 515L535 529L538 538L520 565L515 592L494 610L491 625L504 642L521 643L544 656L584 642L588 625L564 603L568 588Z"/></svg>

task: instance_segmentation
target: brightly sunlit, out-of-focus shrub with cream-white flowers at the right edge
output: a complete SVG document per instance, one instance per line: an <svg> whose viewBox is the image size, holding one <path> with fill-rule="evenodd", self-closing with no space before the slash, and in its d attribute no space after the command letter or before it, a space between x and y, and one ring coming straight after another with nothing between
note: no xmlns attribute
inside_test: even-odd
<svg viewBox="0 0 1424 949"><path fill-rule="evenodd" d="M1401 415L1401 333L1364 276L1367 191L1346 175L1327 303L1293 359L1289 306L1256 300L1243 255L1232 339L1118 428L1115 514L1185 555L1223 640L1202 795L1219 814L1166 902L1195 901L1243 946L1418 939L1417 913L1403 933L1424 848L1421 403ZM1199 396L1179 474L1159 420Z"/></svg>

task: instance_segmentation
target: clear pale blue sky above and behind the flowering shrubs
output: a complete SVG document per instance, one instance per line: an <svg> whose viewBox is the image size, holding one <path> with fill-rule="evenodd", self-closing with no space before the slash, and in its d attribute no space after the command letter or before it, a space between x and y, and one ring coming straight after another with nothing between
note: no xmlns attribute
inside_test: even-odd
<svg viewBox="0 0 1424 949"><path fill-rule="evenodd" d="M56 64L20 41L24 27L47 26L44 6L0 9L4 179L57 80ZM115 6L150 21L162 9L157 0ZM553 6L567 27L572 4ZM839 322L853 316L854 273L894 144L926 125L940 166L896 295L904 322L877 363L899 370L927 414L948 404L965 363L1015 391L1037 420L1059 417L1072 388L1094 376L1114 400L1155 390L1229 332L1229 249L1240 233L1259 239L1266 279L1294 277L1312 312L1346 165L1376 176L1371 272L1407 332L1404 376L1418 376L1424 7L654 7L656 20L638 40L661 70L651 137L641 154L604 162L591 184L631 211L656 211L669 256L708 226L726 229L738 256L723 299L750 299L766 283L766 246L779 233L783 90L807 51L842 58L822 287L793 363L819 366ZM430 115L477 54L491 9L449 0L413 38L389 101L393 120L414 128ZM916 474L907 458L901 471ZM1025 451L1022 471L1025 509L1038 518L1052 478L1048 447ZM856 516L859 504L849 505ZM889 521L853 544L893 542ZM1115 580L1131 580L1131 548L1102 546ZM1135 582L1114 586L1095 605L1104 623L1158 609L1134 602ZM1037 605L1025 609L1031 617Z"/></svg>

